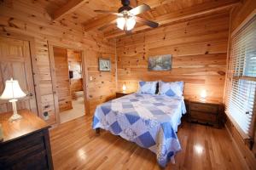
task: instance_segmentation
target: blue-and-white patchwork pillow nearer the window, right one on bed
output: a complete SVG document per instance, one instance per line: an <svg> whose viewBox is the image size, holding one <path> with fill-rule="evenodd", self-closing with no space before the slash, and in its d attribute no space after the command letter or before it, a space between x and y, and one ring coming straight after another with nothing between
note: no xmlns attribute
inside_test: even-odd
<svg viewBox="0 0 256 170"><path fill-rule="evenodd" d="M183 82L159 82L159 94L166 96L183 96Z"/></svg>

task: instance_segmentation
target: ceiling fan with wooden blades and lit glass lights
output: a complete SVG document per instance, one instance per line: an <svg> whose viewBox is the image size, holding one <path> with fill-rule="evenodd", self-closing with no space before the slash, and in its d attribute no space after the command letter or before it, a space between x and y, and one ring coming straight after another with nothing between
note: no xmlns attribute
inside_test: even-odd
<svg viewBox="0 0 256 170"><path fill-rule="evenodd" d="M159 24L154 21L146 20L137 16L137 14L143 14L144 12L150 9L150 7L147 4L142 4L140 6L137 6L136 8L131 8L130 0L121 0L121 2L123 6L119 8L118 13L113 11L95 10L96 13L114 14L117 16L117 19L99 28L100 31L104 30L105 28L114 23L117 24L117 27L120 30L125 31L126 34L131 33L131 30L136 25L136 22L142 23L152 28L156 28L159 26Z"/></svg>

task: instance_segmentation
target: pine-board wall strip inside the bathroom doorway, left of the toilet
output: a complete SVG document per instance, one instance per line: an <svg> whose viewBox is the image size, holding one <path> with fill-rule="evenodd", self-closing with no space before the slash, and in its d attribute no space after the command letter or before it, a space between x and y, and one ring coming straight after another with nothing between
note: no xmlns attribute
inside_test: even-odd
<svg viewBox="0 0 256 170"><path fill-rule="evenodd" d="M68 73L67 49L53 47L55 62L55 87L58 97L59 111L73 108Z"/></svg>

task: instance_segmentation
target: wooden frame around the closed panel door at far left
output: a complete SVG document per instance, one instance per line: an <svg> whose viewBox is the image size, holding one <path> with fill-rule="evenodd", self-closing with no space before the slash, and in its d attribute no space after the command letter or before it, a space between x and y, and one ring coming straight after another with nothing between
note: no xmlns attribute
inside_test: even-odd
<svg viewBox="0 0 256 170"><path fill-rule="evenodd" d="M3 32L0 32L0 37L5 38L12 38L17 39L21 41L27 41L29 43L29 52L30 52L30 59L31 59L31 67L32 67L32 82L33 82L33 88L35 92L35 100L36 100L36 106L37 106L37 115L43 118L42 113L42 103L41 103L41 92L40 92L40 86L39 86L39 71L38 71L38 65L37 65L37 57L36 57L36 45L35 45L35 38L26 36L24 34L17 34L17 33L11 33L6 34Z"/></svg>

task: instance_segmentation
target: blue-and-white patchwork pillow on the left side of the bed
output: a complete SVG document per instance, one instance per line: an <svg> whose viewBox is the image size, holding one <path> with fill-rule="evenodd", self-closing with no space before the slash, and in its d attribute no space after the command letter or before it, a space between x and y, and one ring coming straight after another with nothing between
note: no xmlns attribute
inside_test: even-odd
<svg viewBox="0 0 256 170"><path fill-rule="evenodd" d="M155 94L157 82L139 82L137 94Z"/></svg>

